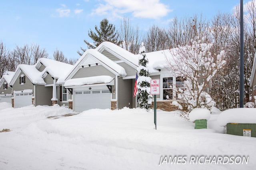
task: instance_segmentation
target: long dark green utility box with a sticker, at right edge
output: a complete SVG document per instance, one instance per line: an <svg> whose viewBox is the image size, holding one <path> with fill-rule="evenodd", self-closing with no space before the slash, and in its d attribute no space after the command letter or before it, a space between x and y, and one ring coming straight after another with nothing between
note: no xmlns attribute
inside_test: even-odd
<svg viewBox="0 0 256 170"><path fill-rule="evenodd" d="M228 123L227 134L256 137L255 123Z"/></svg>

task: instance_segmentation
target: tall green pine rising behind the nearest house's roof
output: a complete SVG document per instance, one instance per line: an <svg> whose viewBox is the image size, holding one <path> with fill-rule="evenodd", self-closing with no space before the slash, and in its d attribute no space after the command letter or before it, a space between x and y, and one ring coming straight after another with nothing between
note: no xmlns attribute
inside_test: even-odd
<svg viewBox="0 0 256 170"><path fill-rule="evenodd" d="M120 45L121 41L118 40L119 34L116 31L115 25L112 23L109 23L106 18L104 18L102 21L100 21L100 28L98 28L97 25L95 25L96 32L93 32L92 29L88 31L89 37L93 40L93 44L84 40L84 43L86 43L88 49L95 49L100 45L100 43L104 41L112 42L116 45ZM85 52L86 49L83 49L80 47L80 49ZM80 51L77 51L79 55L82 55Z"/></svg>

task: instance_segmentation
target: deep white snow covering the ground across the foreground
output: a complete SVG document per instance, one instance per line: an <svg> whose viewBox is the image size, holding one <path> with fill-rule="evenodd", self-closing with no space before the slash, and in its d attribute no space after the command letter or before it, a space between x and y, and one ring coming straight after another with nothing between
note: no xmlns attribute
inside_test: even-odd
<svg viewBox="0 0 256 170"><path fill-rule="evenodd" d="M256 138L222 134L223 127L216 121L220 114L217 109L208 120L208 129L194 129L194 123L181 119L176 112L157 110L154 130L154 112L144 109L92 109L78 114L60 106L10 107L0 103L0 131L10 129L0 133L0 170L256 167ZM75 115L62 116L70 113ZM176 161L178 156L180 161ZM230 159L228 163L191 161L224 156ZM232 163L232 157L249 158L242 164L239 159ZM171 163L169 158L176 160Z"/></svg>

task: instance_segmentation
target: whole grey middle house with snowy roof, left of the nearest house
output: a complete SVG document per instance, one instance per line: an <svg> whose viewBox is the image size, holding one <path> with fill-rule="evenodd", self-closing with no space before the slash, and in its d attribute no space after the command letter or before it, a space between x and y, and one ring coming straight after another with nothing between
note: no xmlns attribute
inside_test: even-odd
<svg viewBox="0 0 256 170"><path fill-rule="evenodd" d="M35 65L19 64L9 84L13 92L12 106L56 104L56 81L70 68L70 64L45 58L40 58Z"/></svg>

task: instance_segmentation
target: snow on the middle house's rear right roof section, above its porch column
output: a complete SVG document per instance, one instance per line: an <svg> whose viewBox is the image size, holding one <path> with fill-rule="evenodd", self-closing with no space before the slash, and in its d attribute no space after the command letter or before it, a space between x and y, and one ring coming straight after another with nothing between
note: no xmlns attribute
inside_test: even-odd
<svg viewBox="0 0 256 170"><path fill-rule="evenodd" d="M44 66L46 66L46 68L42 71L42 74L48 71L54 78L60 78L62 76L66 76L69 70L73 67L73 65L71 64L66 64L60 61L55 61L55 60L46 59L46 58L40 58L36 65L38 65L38 63L40 62L44 64Z"/></svg>

